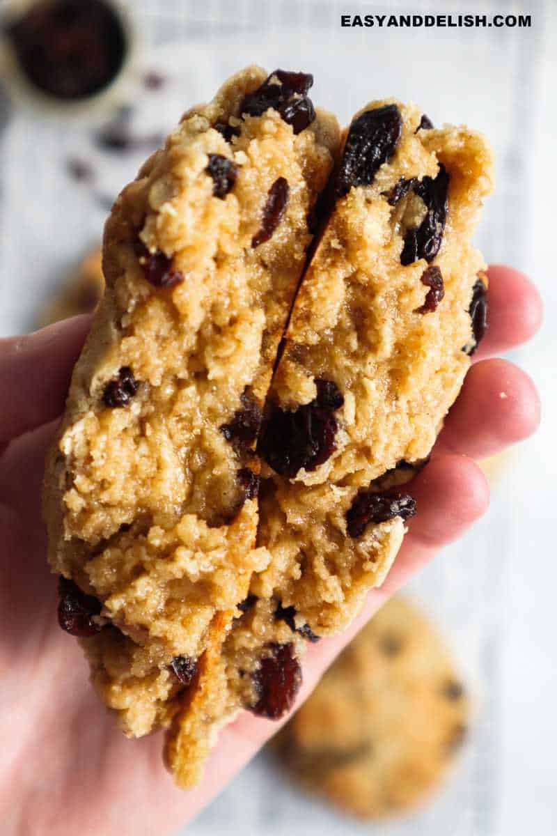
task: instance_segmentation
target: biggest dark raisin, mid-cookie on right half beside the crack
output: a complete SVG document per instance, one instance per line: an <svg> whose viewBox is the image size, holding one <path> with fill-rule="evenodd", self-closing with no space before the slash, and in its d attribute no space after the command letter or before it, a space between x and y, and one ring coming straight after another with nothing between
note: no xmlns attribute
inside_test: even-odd
<svg viewBox="0 0 557 836"><path fill-rule="evenodd" d="M330 380L316 380L317 396L297 410L276 409L266 421L258 447L281 476L295 477L305 467L314 471L337 449L337 420L332 414L344 403Z"/></svg>

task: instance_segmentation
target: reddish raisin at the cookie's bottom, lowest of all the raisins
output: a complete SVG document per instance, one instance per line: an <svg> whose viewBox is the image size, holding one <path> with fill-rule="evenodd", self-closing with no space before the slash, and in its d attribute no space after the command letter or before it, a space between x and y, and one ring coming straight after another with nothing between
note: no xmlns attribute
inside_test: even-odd
<svg viewBox="0 0 557 836"><path fill-rule="evenodd" d="M301 686L301 667L292 645L267 645L269 655L261 659L252 673L257 701L251 711L277 720L289 711Z"/></svg>

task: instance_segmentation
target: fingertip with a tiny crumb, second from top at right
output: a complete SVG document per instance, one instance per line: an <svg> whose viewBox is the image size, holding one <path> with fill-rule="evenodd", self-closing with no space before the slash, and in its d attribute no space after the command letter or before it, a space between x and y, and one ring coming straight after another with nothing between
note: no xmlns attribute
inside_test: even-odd
<svg viewBox="0 0 557 836"><path fill-rule="evenodd" d="M484 458L531 436L538 425L539 397L529 376L508 360L483 360L468 371L438 446Z"/></svg>

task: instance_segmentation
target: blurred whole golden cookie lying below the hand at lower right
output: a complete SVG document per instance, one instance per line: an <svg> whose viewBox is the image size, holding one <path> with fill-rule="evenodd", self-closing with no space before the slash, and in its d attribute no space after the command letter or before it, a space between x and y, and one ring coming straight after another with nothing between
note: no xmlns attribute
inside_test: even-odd
<svg viewBox="0 0 557 836"><path fill-rule="evenodd" d="M302 785L364 818L401 813L438 784L463 741L468 700L423 614L391 599L277 740Z"/></svg>

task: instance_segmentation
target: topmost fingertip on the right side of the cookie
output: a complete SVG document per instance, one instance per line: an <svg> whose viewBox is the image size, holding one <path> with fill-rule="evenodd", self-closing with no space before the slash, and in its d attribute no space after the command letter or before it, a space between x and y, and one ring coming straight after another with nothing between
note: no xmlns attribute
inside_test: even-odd
<svg viewBox="0 0 557 836"><path fill-rule="evenodd" d="M539 293L523 273L495 264L488 278L489 328L474 362L525 343L539 329L543 316Z"/></svg>

